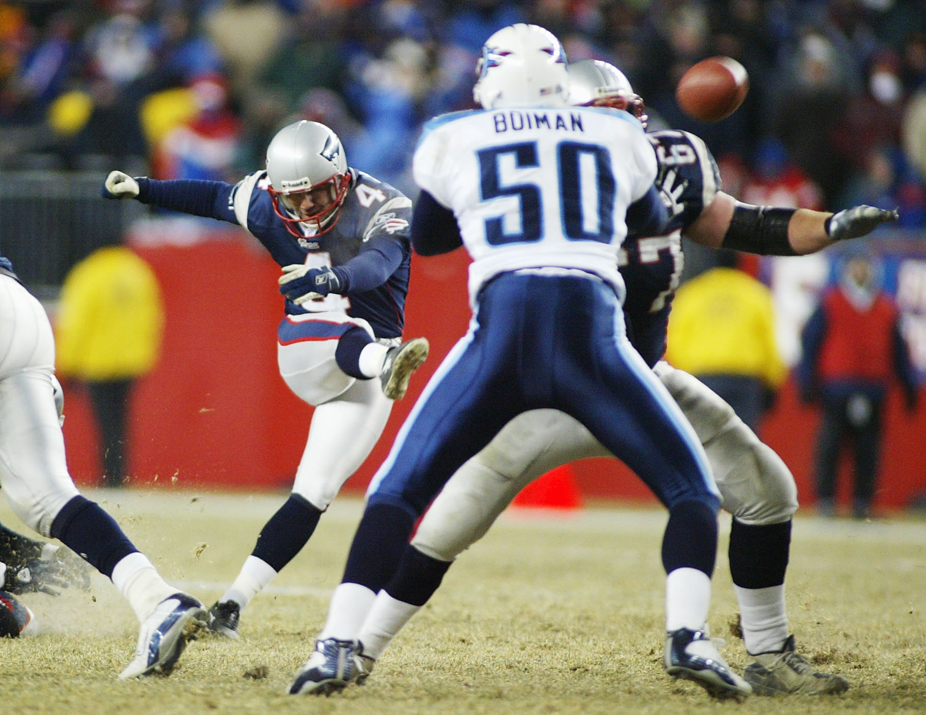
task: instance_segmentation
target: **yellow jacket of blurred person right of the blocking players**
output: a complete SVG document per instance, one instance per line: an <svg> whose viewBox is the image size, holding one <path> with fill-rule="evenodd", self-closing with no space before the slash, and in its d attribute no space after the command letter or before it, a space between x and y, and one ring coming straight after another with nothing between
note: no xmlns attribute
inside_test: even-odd
<svg viewBox="0 0 926 715"><path fill-rule="evenodd" d="M778 388L787 368L775 342L770 290L733 268L714 268L678 290L666 359L693 375L745 375Z"/></svg>

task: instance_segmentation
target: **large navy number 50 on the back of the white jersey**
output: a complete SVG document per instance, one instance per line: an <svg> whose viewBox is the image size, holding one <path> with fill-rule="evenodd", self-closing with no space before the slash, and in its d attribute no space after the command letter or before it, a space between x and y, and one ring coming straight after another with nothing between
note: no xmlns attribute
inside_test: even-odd
<svg viewBox="0 0 926 715"><path fill-rule="evenodd" d="M485 219L485 240L493 246L504 243L519 243L541 240L544 237L543 191L536 184L512 184L502 186L499 179L498 158L505 154L514 154L516 168L539 167L537 142L520 142L506 144L476 153L479 156L479 168L482 174L480 186L482 201L490 201L501 196L518 196L520 203L519 233L505 233L502 216ZM594 190L597 203L597 221L588 220L592 216L583 216L583 192L589 191L582 183L582 164L594 167ZM562 219L563 233L569 240L598 240L610 243L614 238L614 195L617 183L611 171L611 154L598 144L581 142L559 142L557 144L557 177L559 188L559 214Z"/></svg>

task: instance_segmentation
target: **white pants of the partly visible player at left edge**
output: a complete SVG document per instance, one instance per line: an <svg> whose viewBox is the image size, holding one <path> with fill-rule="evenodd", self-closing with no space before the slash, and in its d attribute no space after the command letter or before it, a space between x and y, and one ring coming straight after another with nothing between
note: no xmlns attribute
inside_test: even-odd
<svg viewBox="0 0 926 715"><path fill-rule="evenodd" d="M0 487L43 536L78 496L68 474L52 387L55 339L42 304L0 276Z"/></svg>

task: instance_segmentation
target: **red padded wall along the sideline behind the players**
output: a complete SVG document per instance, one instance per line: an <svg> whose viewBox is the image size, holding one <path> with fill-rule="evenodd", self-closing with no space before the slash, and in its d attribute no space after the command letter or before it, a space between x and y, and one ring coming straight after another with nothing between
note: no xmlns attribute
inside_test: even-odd
<svg viewBox="0 0 926 715"><path fill-rule="evenodd" d="M190 246L137 250L161 281L168 320L161 361L139 382L131 407L132 483L288 487L311 409L277 373L279 267L250 240L217 237ZM462 251L413 259L406 337L426 336L431 357L414 376L406 399L395 404L380 443L346 488L366 487L427 378L466 332L468 265ZM86 399L77 386L68 385L66 391L69 466L78 482L95 484L100 468ZM878 492L882 505L905 505L926 490L926 461L917 456L926 437L924 417L926 405L920 404L911 417L892 394ZM789 383L763 427L763 437L794 470L806 502L812 500L817 420L817 413L797 403ZM584 460L572 471L585 497L652 500L646 487L614 460Z"/></svg>

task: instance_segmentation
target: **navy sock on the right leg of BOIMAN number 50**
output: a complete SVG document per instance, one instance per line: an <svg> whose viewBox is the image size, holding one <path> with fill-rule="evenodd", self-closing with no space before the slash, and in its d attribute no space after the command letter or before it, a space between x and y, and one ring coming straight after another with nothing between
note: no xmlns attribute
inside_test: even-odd
<svg viewBox="0 0 926 715"><path fill-rule="evenodd" d="M666 573L697 569L714 573L717 560L717 512L703 501L688 500L669 511L662 537L662 565Z"/></svg>

